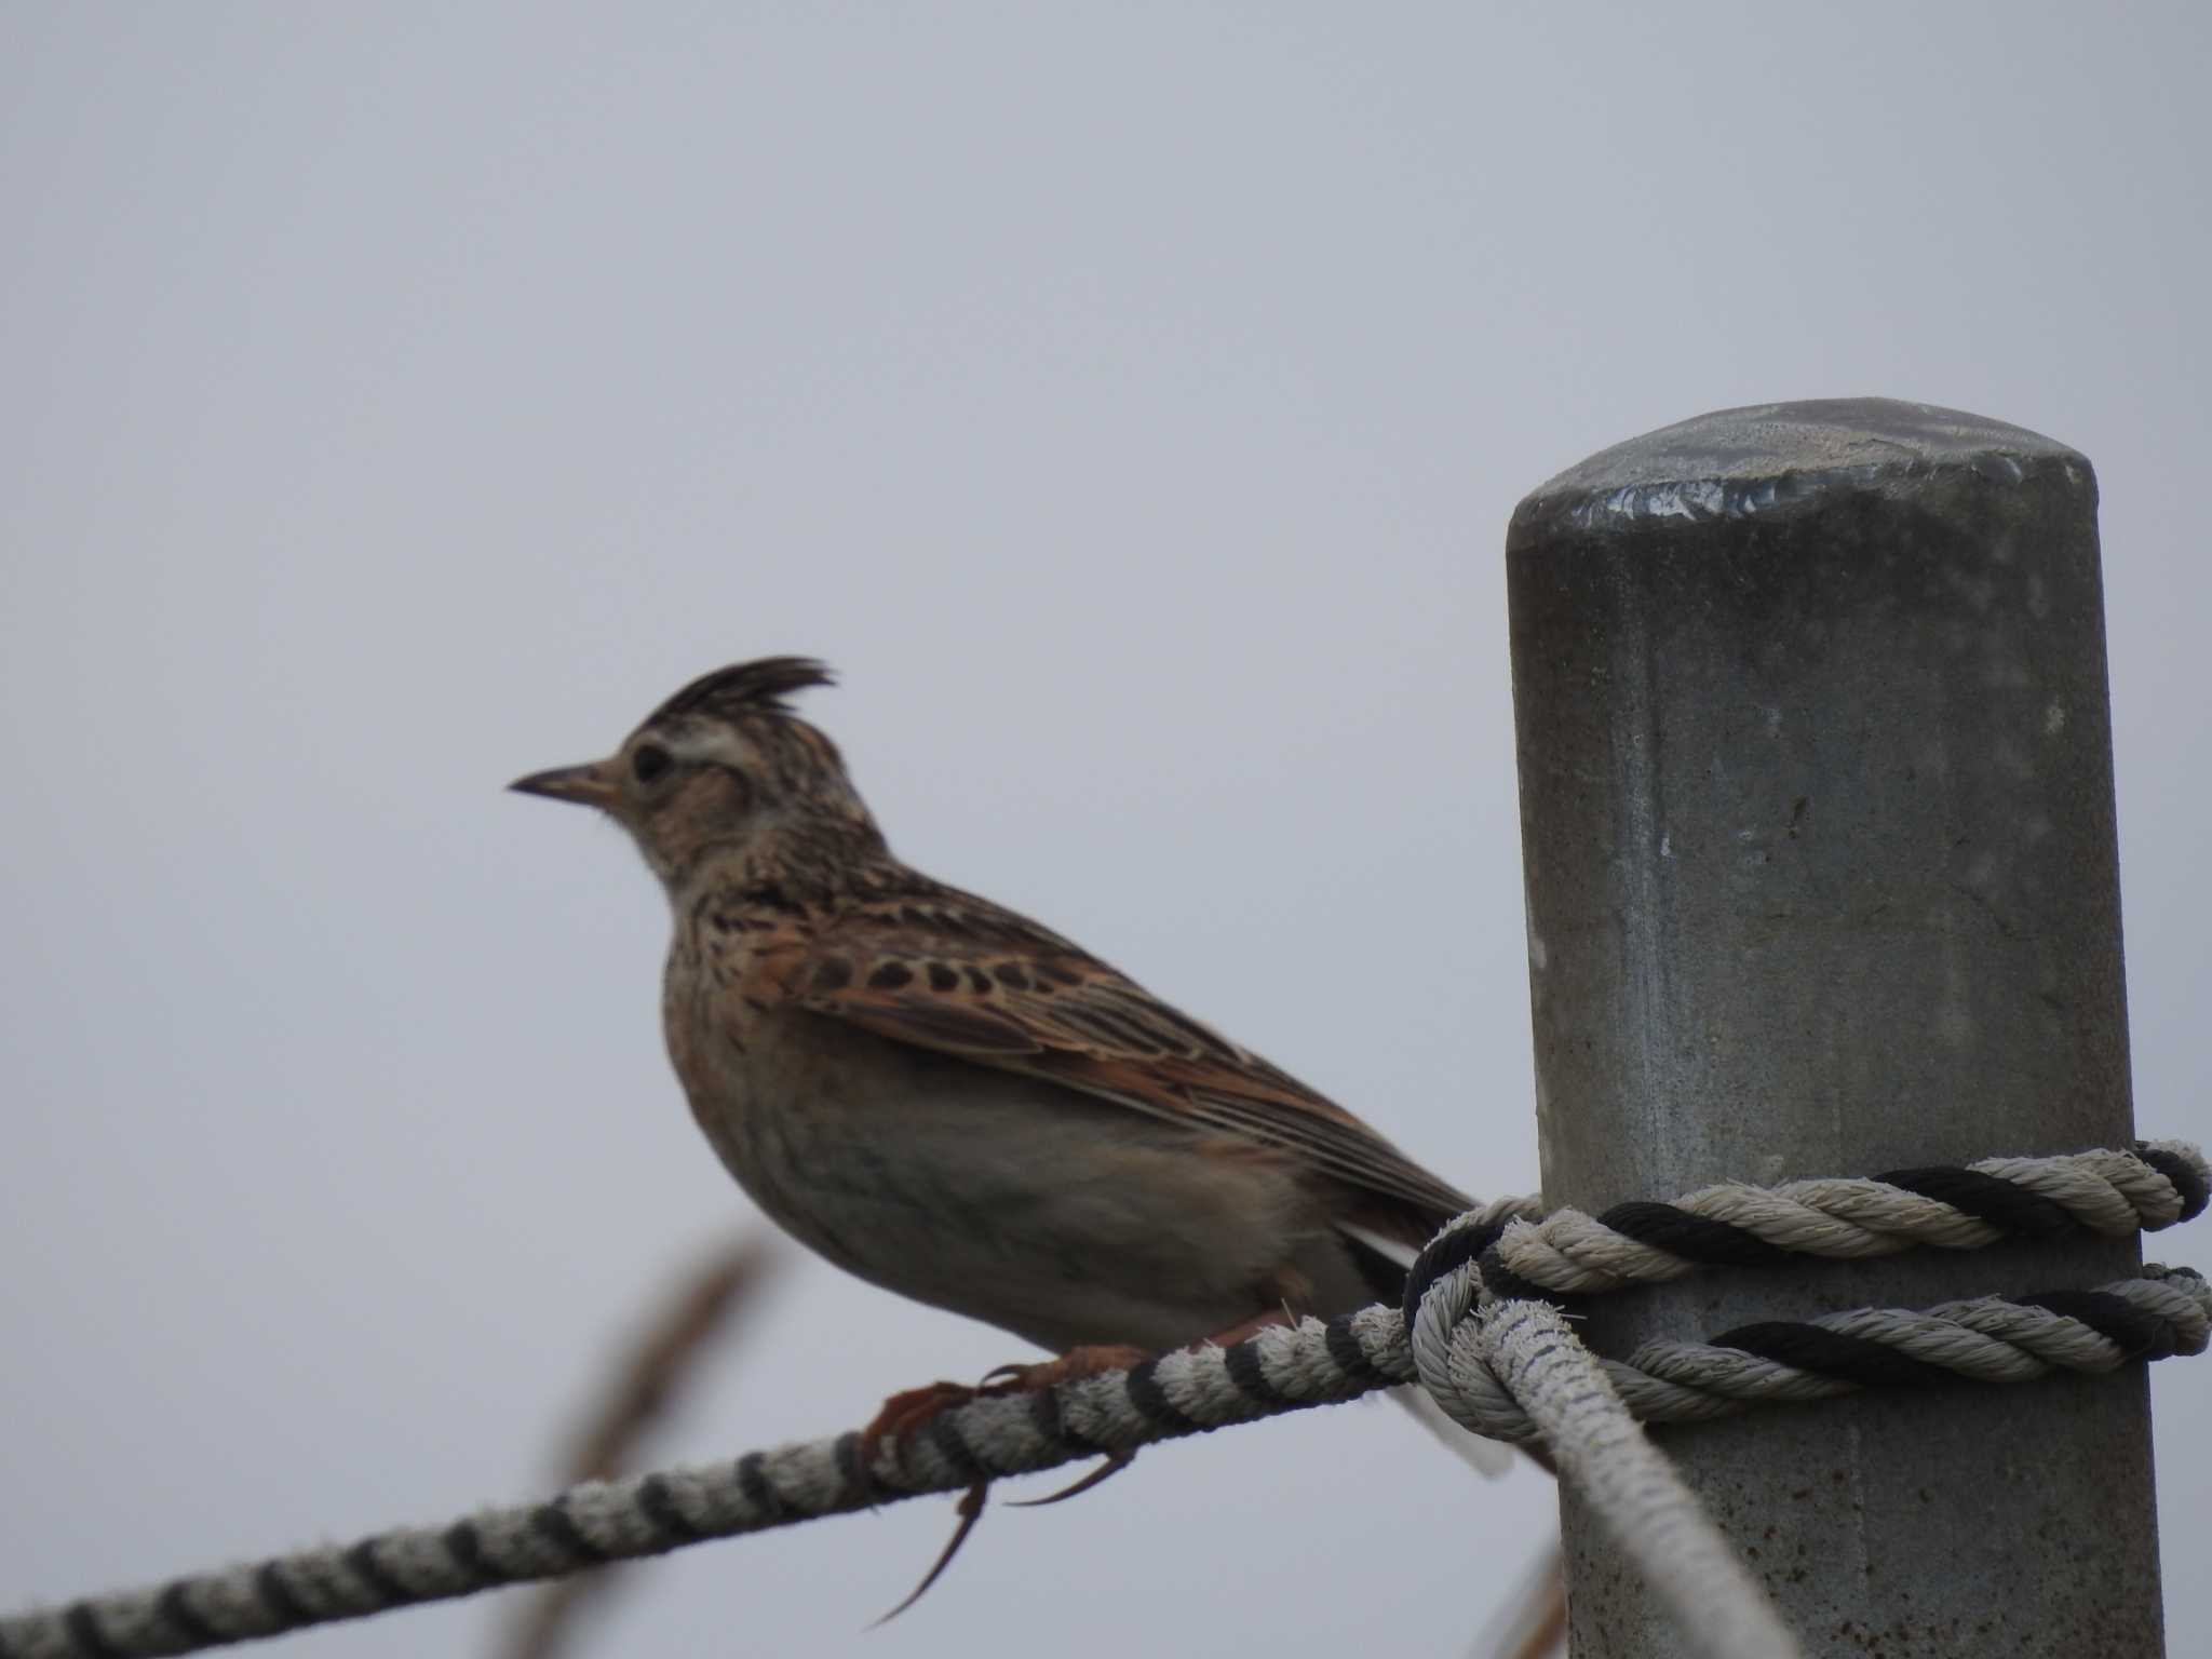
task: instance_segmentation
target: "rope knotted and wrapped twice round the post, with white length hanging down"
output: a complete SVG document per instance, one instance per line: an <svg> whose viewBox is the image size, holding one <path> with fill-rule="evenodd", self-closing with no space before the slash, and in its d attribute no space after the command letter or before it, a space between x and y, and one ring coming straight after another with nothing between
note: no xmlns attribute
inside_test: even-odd
<svg viewBox="0 0 2212 1659"><path fill-rule="evenodd" d="M1679 1206L1619 1206L1604 1221L1575 1217L1566 1250L1542 1241L1544 1223L1498 1225L1467 1214L1416 1261L1400 1318L1422 1385L1447 1416L1478 1433L1528 1416L1559 1478L1584 1495L1690 1650L1705 1659L1796 1659L1796 1639L1639 1418L1719 1416L1752 1398L1818 1398L1867 1383L1949 1374L2013 1383L2059 1367L2112 1369L2128 1358L2203 1352L2212 1290L2188 1270L2148 1267L2141 1279L2097 1292L1984 1296L1927 1314L1860 1310L1743 1327L1710 1345L1650 1343L1628 1365L1599 1360L1557 1307L1517 1292L1531 1279L1584 1292L1674 1279L1701 1259L1889 1254L1911 1243L1960 1248L2062 1228L2128 1232L2201 1212L2205 1183L2194 1148L2154 1155L2172 1168L2090 1152L1909 1170L1880 1181L1798 1181L1781 1192L1708 1188ZM1838 1217L1845 1208L1856 1214ZM1604 1225L1613 1221L1626 1225ZM1690 1250L1659 1250L1655 1234ZM1515 1272L1504 1265L1515 1239L1551 1243L1551 1252L1524 1248ZM1573 1245L1582 1245L1582 1261ZM1599 1250L1613 1254L1613 1270L1590 1272ZM1672 1376L1648 1376L1655 1365ZM1630 1402L1630 1394L1641 1398Z"/></svg>

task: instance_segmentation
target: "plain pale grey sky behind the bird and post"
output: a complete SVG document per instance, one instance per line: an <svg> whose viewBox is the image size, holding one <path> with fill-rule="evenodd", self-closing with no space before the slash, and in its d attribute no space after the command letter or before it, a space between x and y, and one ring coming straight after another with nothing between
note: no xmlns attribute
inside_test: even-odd
<svg viewBox="0 0 2212 1659"><path fill-rule="evenodd" d="M914 863L1531 1186L1502 529L1703 409L2095 460L2137 1108L2203 1137L2208 49L2185 4L0 4L0 1604L544 1484L750 1212L648 874L500 785L728 659L843 670L810 708ZM796 1265L655 1449L1011 1358ZM2212 1371L2154 1396L2203 1628ZM1551 1491L1310 1413L993 1513L863 1639L949 1524L690 1551L604 1650L1451 1652Z"/></svg>

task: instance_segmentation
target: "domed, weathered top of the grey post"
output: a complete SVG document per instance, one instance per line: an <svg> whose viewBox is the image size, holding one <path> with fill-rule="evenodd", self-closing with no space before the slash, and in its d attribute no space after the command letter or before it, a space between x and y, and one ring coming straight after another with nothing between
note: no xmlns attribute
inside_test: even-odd
<svg viewBox="0 0 2212 1659"><path fill-rule="evenodd" d="M1836 487L1907 495L1966 478L2017 484L2046 467L2095 491L2086 456L2004 420L1896 398L1754 403L1646 431L1568 467L1513 509L1506 551L1562 531L1783 518Z"/></svg>

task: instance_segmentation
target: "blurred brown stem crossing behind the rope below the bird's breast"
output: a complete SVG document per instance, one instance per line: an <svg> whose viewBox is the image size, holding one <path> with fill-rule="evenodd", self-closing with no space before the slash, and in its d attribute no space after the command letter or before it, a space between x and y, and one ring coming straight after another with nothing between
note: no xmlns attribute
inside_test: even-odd
<svg viewBox="0 0 2212 1659"><path fill-rule="evenodd" d="M723 1245L677 1283L568 1444L560 1471L564 1482L611 1480L630 1467L646 1431L695 1380L710 1338L739 1323L772 1276L776 1256L768 1234L750 1234ZM619 1571L577 1573L522 1597L495 1650L502 1659L553 1659L575 1632L577 1604L602 1593Z"/></svg>

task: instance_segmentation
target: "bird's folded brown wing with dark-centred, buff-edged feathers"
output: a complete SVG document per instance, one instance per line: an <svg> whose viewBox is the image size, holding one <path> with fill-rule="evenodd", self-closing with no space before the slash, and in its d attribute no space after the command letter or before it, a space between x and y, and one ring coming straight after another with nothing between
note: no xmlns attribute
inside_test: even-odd
<svg viewBox="0 0 2212 1659"><path fill-rule="evenodd" d="M1469 1206L1343 1106L973 894L931 883L858 905L763 967L781 1000L878 1037L1281 1148L1425 1217Z"/></svg>

